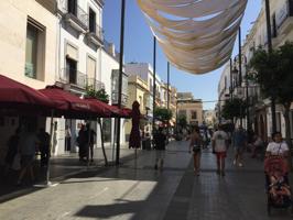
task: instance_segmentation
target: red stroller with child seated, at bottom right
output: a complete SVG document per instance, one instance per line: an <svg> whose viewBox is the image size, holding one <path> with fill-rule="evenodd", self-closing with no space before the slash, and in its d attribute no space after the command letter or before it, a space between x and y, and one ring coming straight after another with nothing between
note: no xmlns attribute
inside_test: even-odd
<svg viewBox="0 0 293 220"><path fill-rule="evenodd" d="M287 179L287 165L280 156L271 156L264 161L264 173L268 195L268 215L272 208L291 208L293 213L292 194Z"/></svg>

